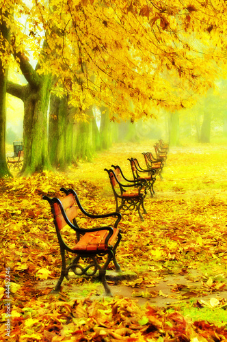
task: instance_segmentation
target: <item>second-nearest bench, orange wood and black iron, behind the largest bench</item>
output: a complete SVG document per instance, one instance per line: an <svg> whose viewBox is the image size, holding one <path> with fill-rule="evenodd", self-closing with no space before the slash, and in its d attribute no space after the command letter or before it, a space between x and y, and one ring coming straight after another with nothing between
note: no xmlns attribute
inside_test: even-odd
<svg viewBox="0 0 227 342"><path fill-rule="evenodd" d="M119 166L114 168L115 170L105 169L105 171L109 174L109 180L114 192L116 211L119 212L121 209L130 211L136 210L139 214L139 218L144 221L144 218L140 213L140 207L142 207L144 213L147 213L144 208L144 198L146 197L144 180L141 182L129 181L123 176ZM124 181L124 184L122 184L122 181ZM125 181L127 182L126 184Z"/></svg>

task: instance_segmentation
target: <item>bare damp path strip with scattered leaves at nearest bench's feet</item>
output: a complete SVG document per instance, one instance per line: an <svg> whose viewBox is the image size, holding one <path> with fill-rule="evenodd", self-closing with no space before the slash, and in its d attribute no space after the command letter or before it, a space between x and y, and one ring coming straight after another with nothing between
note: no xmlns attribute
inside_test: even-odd
<svg viewBox="0 0 227 342"><path fill-rule="evenodd" d="M103 298L103 285L95 283L92 287L87 283L76 285L76 276L70 276L70 280L64 280L63 293L68 296L68 299L85 298L92 293L91 298ZM120 278L126 280L135 280L136 274L123 273ZM119 282L119 275L115 272L107 272L107 281L113 296L123 298L134 298L139 305L144 305L147 302L159 307L177 306L181 302L194 300L195 302L209 302L211 299L227 300L227 278L223 278L219 282L220 288L215 291L209 286L209 279L204 279L204 276L196 270L191 270L187 276L182 275L167 275L157 281L155 285L149 287L129 287L122 282ZM53 289L56 280L42 280L39 282L38 289L42 292L48 292ZM124 281L123 281L124 282Z"/></svg>

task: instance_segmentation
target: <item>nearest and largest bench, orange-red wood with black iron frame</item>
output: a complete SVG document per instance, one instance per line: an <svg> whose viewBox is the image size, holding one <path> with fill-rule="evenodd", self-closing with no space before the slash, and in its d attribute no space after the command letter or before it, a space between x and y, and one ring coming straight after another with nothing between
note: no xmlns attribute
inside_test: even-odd
<svg viewBox="0 0 227 342"><path fill-rule="evenodd" d="M61 191L66 194L66 196L61 199L49 198L48 196L42 197L44 200L47 200L51 206L53 222L55 224L60 253L62 256L61 276L59 277L57 285L52 292L59 292L62 281L64 278L68 280L68 272L71 269L77 276L82 276L83 274L94 276L96 272L99 271L99 276L101 277L105 288L105 294L111 295L111 290L107 285L105 274L111 260L114 261L116 272L121 272L120 265L118 265L118 262L116 261L116 248L122 238L120 229L118 228L121 215L120 213L92 215L83 209L79 202L79 198L73 189L66 190L61 188ZM98 228L80 228L77 223L78 209L91 219L117 217L114 228L109 225ZM73 246L68 246L66 239L62 236L61 231L64 227L67 227L67 235L68 231L74 231L72 242L70 242ZM72 230L70 228L72 228ZM75 254L74 259L67 267L66 252ZM104 255L107 255L107 260L103 267L101 267L98 261L100 257L103 257ZM87 258L88 265L86 267L79 264L79 259L81 258Z"/></svg>

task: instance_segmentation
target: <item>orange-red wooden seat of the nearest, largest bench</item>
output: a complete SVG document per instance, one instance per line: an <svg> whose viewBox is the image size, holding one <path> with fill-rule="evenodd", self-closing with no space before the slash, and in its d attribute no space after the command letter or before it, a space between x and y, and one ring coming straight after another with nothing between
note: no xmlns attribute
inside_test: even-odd
<svg viewBox="0 0 227 342"><path fill-rule="evenodd" d="M114 241L116 240L118 233L119 229L114 228L114 234L109 239L110 246L114 245ZM105 238L108 234L109 231L107 230L85 233L72 250L107 250L107 246L105 246Z"/></svg>

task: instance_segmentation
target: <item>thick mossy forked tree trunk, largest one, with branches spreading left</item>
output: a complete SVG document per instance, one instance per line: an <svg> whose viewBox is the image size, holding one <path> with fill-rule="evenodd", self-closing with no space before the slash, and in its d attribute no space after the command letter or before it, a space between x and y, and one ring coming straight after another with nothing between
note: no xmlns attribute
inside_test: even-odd
<svg viewBox="0 0 227 342"><path fill-rule="evenodd" d="M25 154L21 174L29 176L35 172L51 170L48 153L47 110L52 77L39 75L37 72L40 67L39 63L34 69L23 52L14 51L14 57L18 60L28 84L20 86L8 82L7 91L24 102L23 146Z"/></svg>

